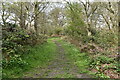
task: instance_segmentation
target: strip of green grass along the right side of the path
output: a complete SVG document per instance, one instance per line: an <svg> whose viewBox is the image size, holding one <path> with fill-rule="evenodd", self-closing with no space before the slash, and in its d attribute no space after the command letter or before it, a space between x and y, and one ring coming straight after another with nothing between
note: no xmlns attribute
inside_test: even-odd
<svg viewBox="0 0 120 80"><path fill-rule="evenodd" d="M69 59L79 68L79 73L89 73L89 57L87 53L81 53L79 49L68 42L59 40Z"/></svg>

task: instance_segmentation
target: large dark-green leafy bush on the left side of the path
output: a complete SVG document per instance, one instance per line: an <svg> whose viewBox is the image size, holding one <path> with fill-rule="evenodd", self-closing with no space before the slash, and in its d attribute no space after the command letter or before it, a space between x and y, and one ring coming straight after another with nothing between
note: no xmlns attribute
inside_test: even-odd
<svg viewBox="0 0 120 80"><path fill-rule="evenodd" d="M9 24L10 25L10 24ZM38 43L43 43L47 36L42 34L36 35L35 33L28 33L26 30L21 29L11 24L10 26L3 27L2 38L2 54L3 54L3 68L10 68L27 65L21 59L23 54L28 52L26 46L34 46ZM12 29L9 30L9 29Z"/></svg>

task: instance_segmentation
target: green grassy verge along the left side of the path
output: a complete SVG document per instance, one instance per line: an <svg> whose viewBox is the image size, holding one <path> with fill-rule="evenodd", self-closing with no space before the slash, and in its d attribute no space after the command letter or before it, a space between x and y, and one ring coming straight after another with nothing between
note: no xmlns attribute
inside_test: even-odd
<svg viewBox="0 0 120 80"><path fill-rule="evenodd" d="M17 78L23 76L23 73L28 72L37 67L45 67L54 59L56 45L52 39L48 39L47 43L29 47L29 52L24 54L21 59L27 65L19 67L13 65L12 68L3 69L3 78Z"/></svg>

